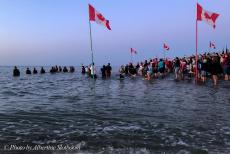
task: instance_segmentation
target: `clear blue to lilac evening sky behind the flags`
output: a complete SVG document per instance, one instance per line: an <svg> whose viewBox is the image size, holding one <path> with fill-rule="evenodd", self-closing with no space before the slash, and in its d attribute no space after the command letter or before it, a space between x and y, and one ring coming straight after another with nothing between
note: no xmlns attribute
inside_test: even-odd
<svg viewBox="0 0 230 154"><path fill-rule="evenodd" d="M88 65L91 62L88 4L110 21L112 31L94 22L92 39L96 65L195 53L197 0L0 0L0 65ZM220 17L214 30L198 23L198 49L230 46L230 1L198 0ZM229 47L230 48L230 47ZM214 50L212 50L214 51Z"/></svg>

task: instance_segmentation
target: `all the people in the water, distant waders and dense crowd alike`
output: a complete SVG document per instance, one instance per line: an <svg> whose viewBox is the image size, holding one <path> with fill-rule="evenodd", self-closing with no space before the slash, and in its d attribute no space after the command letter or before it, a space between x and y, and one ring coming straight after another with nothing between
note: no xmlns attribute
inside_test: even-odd
<svg viewBox="0 0 230 154"><path fill-rule="evenodd" d="M75 68L70 66L69 69L61 66L53 66L50 69L50 73L58 72L75 72ZM110 63L103 65L101 68L101 77L108 79L111 77L112 67ZM46 73L45 69L41 67L40 74ZM94 63L89 66L81 66L81 73L87 74L89 77L97 78L96 68ZM174 73L175 80L184 80L195 78L197 81L205 83L208 78L211 78L214 85L218 84L220 78L224 80L230 80L230 52L226 51L222 53L204 53L199 55L196 63L195 56L182 57L169 60L153 58L138 62L136 65L129 63L122 65L119 69L120 79L124 79L126 76L136 77L141 76L146 80L152 80L156 78L164 78L170 73ZM38 74L36 68L31 71L26 69L26 74ZM20 76L19 69L15 66L13 70L13 76Z"/></svg>

